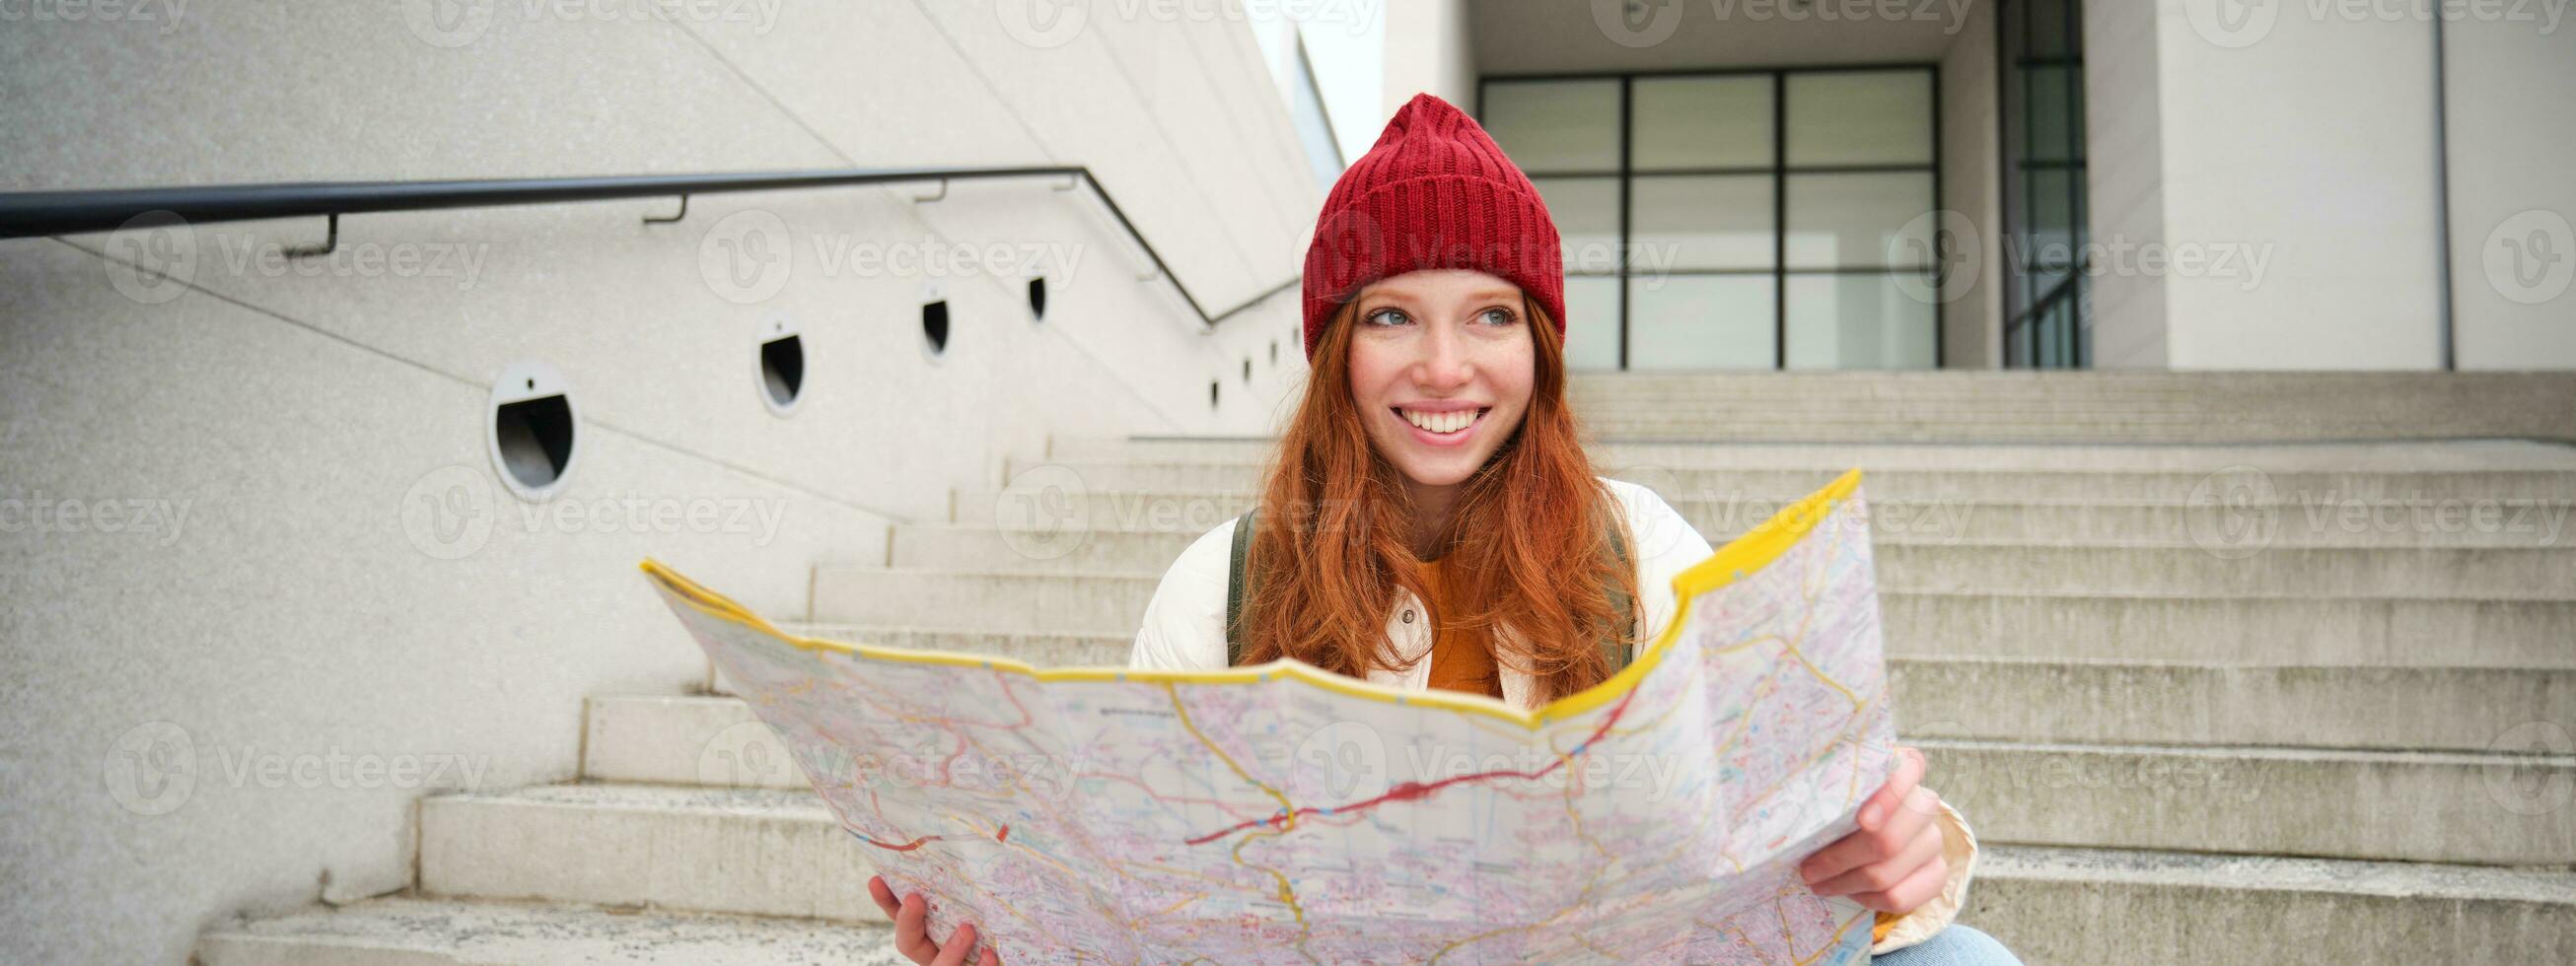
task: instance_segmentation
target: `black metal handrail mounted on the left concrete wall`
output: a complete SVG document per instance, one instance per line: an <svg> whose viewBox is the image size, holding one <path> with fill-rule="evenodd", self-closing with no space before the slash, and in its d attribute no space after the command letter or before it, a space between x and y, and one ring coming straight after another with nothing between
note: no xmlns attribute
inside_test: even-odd
<svg viewBox="0 0 2576 966"><path fill-rule="evenodd" d="M523 204L611 201L611 198L680 198L734 193L734 191L796 191L796 188L855 188L907 180L938 180L945 196L948 180L992 178L1074 178L1092 188L1092 196L1118 219L1118 227L1136 240L1136 247L1154 260L1154 273L1172 283L1180 301L1198 312L1198 322L1213 327L1280 291L1298 278L1265 289L1242 304L1208 314L1190 286L1172 273L1154 242L1128 222L1126 209L1110 196L1090 167L881 167L881 170L781 170L781 173L729 173L729 175L605 175L605 178L507 178L507 180L309 180L276 185L196 185L196 188L113 188L113 191L21 191L0 193L0 237L44 237L77 232L113 232L129 219L149 211L170 211L185 222L252 222L330 216L337 237L343 214L374 211L435 211L435 209L502 209ZM667 219L662 219L667 222Z"/></svg>

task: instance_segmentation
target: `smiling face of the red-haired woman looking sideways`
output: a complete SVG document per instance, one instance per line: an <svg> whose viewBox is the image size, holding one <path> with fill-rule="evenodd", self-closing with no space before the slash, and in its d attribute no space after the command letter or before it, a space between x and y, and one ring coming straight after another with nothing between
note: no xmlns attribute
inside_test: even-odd
<svg viewBox="0 0 2576 966"><path fill-rule="evenodd" d="M1499 276L1427 268L1358 294L1352 402L1368 440L1432 505L1520 428L1535 366L1520 286Z"/></svg>

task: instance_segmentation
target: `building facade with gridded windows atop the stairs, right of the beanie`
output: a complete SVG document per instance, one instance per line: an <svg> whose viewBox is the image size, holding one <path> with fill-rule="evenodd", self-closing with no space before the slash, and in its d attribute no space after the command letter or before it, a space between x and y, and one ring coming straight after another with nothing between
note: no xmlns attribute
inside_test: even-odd
<svg viewBox="0 0 2576 966"><path fill-rule="evenodd" d="M2576 366L2563 5L1430 5L1587 368Z"/></svg>

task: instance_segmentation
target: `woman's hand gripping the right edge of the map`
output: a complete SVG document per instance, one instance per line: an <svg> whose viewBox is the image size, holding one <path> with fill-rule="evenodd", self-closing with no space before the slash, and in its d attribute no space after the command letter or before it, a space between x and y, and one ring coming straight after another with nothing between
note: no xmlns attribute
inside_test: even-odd
<svg viewBox="0 0 2576 966"><path fill-rule="evenodd" d="M1896 775L1860 804L1860 832L1844 835L1798 863L1798 876L1819 896L1852 896L1878 912L1914 912L1950 878L1940 858L1940 796L1924 788L1924 752L1896 750Z"/></svg>

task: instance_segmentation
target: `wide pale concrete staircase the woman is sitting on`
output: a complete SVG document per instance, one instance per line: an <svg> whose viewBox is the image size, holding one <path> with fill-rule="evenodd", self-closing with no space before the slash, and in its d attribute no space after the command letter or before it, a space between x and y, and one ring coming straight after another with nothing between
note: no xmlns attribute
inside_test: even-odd
<svg viewBox="0 0 2576 966"><path fill-rule="evenodd" d="M1901 732L1984 842L1963 922L2025 961L2576 961L2576 376L2267 379L1574 392L1597 466L1713 544L1870 471ZM1775 430L1834 446L1744 440ZM817 567L804 629L1121 665L1262 456L1059 440L884 559ZM1072 528L1023 526L1046 484ZM580 783L422 801L412 891L222 925L198 953L894 963L866 876L711 677L592 698Z"/></svg>

